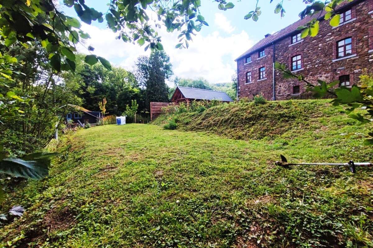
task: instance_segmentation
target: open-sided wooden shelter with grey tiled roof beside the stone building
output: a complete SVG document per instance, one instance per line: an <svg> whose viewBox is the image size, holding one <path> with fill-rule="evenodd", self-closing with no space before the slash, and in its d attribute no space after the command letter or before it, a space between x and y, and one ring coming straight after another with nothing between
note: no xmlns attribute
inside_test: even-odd
<svg viewBox="0 0 373 248"><path fill-rule="evenodd" d="M204 90L181 86L176 87L176 90L171 97L171 102L174 103L189 103L193 100L218 100L226 103L233 102L231 97L229 97L228 94L223 91Z"/></svg>

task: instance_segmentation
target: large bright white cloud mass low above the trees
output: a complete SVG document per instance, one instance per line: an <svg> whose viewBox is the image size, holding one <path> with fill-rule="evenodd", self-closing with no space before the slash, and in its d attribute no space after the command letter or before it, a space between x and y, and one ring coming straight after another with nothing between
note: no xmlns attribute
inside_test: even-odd
<svg viewBox="0 0 373 248"><path fill-rule="evenodd" d="M245 31L229 36L222 36L219 32L203 35L203 31L207 31L207 28L192 37L193 41L189 42L188 49L175 49L178 33L167 33L164 28L159 30L163 47L173 65L174 76L204 77L210 83L229 82L236 70L234 59L254 43ZM83 24L82 29L91 36L87 46L92 45L95 48L94 54L126 70L132 70L137 57L150 53L150 49L144 52L145 46L140 47L115 39L117 34L109 29L99 29L86 24Z"/></svg>

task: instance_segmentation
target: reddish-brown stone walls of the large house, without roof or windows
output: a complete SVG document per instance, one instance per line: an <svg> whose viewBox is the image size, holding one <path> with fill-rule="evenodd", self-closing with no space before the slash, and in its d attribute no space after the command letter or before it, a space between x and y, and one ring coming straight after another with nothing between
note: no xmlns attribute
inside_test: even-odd
<svg viewBox="0 0 373 248"><path fill-rule="evenodd" d="M351 7L350 7L351 8ZM348 9L350 9L348 8ZM347 9L346 9L347 10ZM373 0L366 0L352 6L352 19L338 27L331 27L329 21L320 20L320 30L316 37L307 37L296 44L291 44L292 33L276 41L274 46L265 48L266 57L258 59L258 52L251 54L252 62L245 64L245 58L237 61L239 97L252 98L254 94L263 93L268 100L273 99L273 49L275 61L291 67L291 58L301 55L302 68L296 73L306 80L317 84L317 79L327 82L338 80L341 75L350 75L350 85L356 84L359 75L366 69L373 73ZM337 59L337 42L352 38L352 55ZM267 79L258 81L259 68L266 67ZM251 71L252 83L246 82L246 73ZM300 94L305 92L305 83L297 79L283 79L275 71L276 100L289 99L294 86L300 87ZM338 86L336 86L338 87Z"/></svg>

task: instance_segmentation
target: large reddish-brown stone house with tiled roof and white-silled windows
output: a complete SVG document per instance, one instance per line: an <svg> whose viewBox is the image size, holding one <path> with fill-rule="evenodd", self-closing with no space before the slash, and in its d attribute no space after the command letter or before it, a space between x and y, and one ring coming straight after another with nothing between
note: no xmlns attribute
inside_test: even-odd
<svg viewBox="0 0 373 248"><path fill-rule="evenodd" d="M325 13L325 12L324 12ZM286 28L267 34L235 61L238 74L238 97L252 98L263 93L267 100L283 100L305 92L297 79L283 79L274 70L274 62L288 65L291 71L316 83L339 80L341 86L352 86L364 69L373 73L373 0L343 2L337 27L320 15L320 29L315 37L302 39L299 26L309 22L305 17ZM316 15L317 17L319 15Z"/></svg>

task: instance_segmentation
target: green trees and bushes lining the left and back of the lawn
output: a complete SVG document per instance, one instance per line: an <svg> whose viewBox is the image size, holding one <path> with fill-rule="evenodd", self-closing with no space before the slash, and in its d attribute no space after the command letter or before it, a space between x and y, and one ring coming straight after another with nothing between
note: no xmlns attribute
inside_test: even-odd
<svg viewBox="0 0 373 248"><path fill-rule="evenodd" d="M106 114L121 115L136 100L137 113L147 117L150 102L168 102L175 90L165 83L173 72L164 51L140 56L132 72L87 64L85 55L74 55L75 72L64 68L57 72L48 49L53 48L38 42L29 42L26 47L20 43L0 44L4 72L0 75L0 148L8 153L28 154L46 146L56 128L63 128L67 113L76 112L72 105L100 111L99 103L106 99ZM232 83L213 85L203 78L178 77L173 83L226 91L235 99Z"/></svg>

